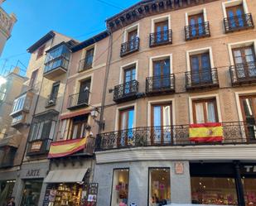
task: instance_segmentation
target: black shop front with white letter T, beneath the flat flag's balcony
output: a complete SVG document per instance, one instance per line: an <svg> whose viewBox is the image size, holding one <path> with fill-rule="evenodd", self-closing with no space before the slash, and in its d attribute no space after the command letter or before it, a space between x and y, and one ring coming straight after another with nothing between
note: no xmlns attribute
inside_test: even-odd
<svg viewBox="0 0 256 206"><path fill-rule="evenodd" d="M191 163L193 204L256 205L256 164Z"/></svg>

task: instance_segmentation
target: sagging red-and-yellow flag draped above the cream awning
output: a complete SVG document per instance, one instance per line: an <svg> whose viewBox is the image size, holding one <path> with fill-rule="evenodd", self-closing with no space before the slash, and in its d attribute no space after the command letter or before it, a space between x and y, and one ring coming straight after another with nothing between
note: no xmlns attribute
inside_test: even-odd
<svg viewBox="0 0 256 206"><path fill-rule="evenodd" d="M69 156L85 148L86 138L51 143L48 158Z"/></svg>

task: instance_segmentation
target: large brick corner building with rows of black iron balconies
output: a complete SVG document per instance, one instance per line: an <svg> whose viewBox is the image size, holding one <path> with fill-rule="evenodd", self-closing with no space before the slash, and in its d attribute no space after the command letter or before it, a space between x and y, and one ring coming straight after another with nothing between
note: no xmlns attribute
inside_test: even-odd
<svg viewBox="0 0 256 206"><path fill-rule="evenodd" d="M252 0L148 0L107 20L97 205L256 204L255 18Z"/></svg>

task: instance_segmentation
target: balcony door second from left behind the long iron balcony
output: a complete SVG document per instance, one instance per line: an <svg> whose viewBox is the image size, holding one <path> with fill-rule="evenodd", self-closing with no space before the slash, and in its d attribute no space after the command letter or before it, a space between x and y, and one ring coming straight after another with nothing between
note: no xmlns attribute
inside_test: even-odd
<svg viewBox="0 0 256 206"><path fill-rule="evenodd" d="M152 105L152 144L171 143L171 103Z"/></svg>

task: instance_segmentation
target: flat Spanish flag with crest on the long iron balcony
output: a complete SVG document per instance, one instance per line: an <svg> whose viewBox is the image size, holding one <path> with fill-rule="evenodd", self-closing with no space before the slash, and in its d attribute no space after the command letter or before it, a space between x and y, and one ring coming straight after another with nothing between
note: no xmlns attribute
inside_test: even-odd
<svg viewBox="0 0 256 206"><path fill-rule="evenodd" d="M190 125L190 141L212 142L223 140L221 123L202 123Z"/></svg>

